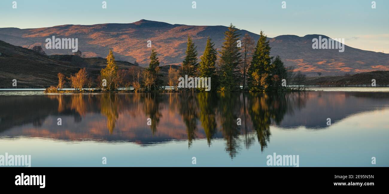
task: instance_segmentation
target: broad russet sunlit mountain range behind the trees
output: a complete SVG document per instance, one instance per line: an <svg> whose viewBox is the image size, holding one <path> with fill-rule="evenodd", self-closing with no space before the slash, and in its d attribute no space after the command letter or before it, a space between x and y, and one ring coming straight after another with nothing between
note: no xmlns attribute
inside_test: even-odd
<svg viewBox="0 0 389 194"><path fill-rule="evenodd" d="M40 45L48 55L70 55L71 49L45 49L46 38L78 38L79 50L87 57L105 57L109 48L114 49L116 60L145 67L149 63L151 48L158 51L161 65L180 65L185 55L187 35L191 35L197 45L199 57L205 48L207 37L211 37L218 49L221 48L226 26L193 26L169 24L142 19L134 23L106 23L96 25L61 25L47 28L0 28L0 40L16 46L32 48ZM242 36L249 33L255 40L259 35L240 30ZM312 39L328 38L325 35L280 35L268 38L272 47L271 55L280 55L287 66L307 75L322 72L323 75L353 74L369 71L389 70L389 54L364 51L345 46L338 49L312 49ZM338 38L338 37L332 37ZM347 43L347 42L346 42Z"/></svg>

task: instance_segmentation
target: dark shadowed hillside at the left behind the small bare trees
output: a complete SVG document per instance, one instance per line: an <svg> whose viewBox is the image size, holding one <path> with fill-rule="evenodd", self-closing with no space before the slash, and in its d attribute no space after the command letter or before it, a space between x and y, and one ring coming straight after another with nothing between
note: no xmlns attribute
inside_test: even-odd
<svg viewBox="0 0 389 194"><path fill-rule="evenodd" d="M81 58L75 55L44 56L38 53L0 41L0 88L11 88L12 80L17 80L18 88L40 87L47 88L57 85L57 74L63 73L70 77L85 67L89 77L93 80L104 68L104 58ZM118 69L139 68L129 62L117 61ZM66 84L68 86L68 83Z"/></svg>

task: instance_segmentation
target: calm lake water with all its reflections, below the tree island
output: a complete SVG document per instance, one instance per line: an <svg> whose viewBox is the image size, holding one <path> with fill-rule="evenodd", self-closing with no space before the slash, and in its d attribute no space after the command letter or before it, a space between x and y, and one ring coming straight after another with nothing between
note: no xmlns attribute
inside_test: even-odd
<svg viewBox="0 0 389 194"><path fill-rule="evenodd" d="M389 92L11 94L0 155L32 166L389 166Z"/></svg>

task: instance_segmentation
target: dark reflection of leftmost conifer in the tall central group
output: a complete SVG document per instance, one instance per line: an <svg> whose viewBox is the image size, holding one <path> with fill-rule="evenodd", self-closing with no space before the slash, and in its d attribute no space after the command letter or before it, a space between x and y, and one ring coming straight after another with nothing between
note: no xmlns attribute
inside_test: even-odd
<svg viewBox="0 0 389 194"><path fill-rule="evenodd" d="M179 95L178 102L180 104L180 114L186 125L188 146L190 147L193 139L197 138L196 121L198 119L198 108L196 106L196 99L193 93L182 93L182 95Z"/></svg>

